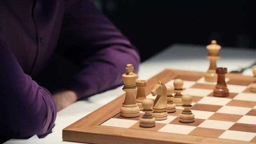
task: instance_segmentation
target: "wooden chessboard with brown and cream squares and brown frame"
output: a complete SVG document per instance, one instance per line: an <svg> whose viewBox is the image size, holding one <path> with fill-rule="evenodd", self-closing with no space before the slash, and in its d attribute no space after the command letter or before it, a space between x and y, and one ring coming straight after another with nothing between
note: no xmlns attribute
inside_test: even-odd
<svg viewBox="0 0 256 144"><path fill-rule="evenodd" d="M195 122L179 122L183 108L168 113L166 120L156 120L153 128L142 128L139 119L120 116L120 107L125 94L74 122L62 131L64 141L84 143L255 143L256 142L256 93L248 85L252 77L241 74L226 74L229 96L214 97L216 82L206 82L203 72L164 70L148 80L147 98L158 81L173 85L175 79L184 81L182 94L193 97L190 109Z"/></svg>

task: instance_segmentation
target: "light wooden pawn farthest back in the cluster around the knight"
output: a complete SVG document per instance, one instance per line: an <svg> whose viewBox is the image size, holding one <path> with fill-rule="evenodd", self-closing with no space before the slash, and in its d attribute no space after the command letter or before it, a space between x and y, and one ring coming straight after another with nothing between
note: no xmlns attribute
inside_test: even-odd
<svg viewBox="0 0 256 144"><path fill-rule="evenodd" d="M174 97L172 98L172 101L174 102L174 104L176 104L176 106L182 106L182 94L181 92L183 91L183 80L181 79L176 79L173 82L174 85Z"/></svg>

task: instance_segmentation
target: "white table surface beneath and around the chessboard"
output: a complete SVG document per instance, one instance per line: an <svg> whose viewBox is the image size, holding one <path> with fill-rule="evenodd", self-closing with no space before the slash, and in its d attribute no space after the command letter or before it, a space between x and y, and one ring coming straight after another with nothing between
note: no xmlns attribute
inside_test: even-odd
<svg viewBox="0 0 256 144"><path fill-rule="evenodd" d="M140 64L138 79L148 80L166 68L206 72L209 67L209 60L206 59L207 54L208 51L205 46L185 44L171 45ZM230 72L232 70L250 66L250 64L255 62L256 50L222 47L220 56L221 59L218 60L217 66L226 67L228 68L228 72ZM252 76L252 69L244 71L243 74ZM122 86L120 86L114 90L108 90L91 96L90 98L80 100L67 108L64 108L57 113L56 126L53 128L52 134L39 140L34 139L33 143L75 144L75 142L62 141L62 129L114 100L123 93ZM11 139L5 144L23 144L27 142L29 142L29 140Z"/></svg>

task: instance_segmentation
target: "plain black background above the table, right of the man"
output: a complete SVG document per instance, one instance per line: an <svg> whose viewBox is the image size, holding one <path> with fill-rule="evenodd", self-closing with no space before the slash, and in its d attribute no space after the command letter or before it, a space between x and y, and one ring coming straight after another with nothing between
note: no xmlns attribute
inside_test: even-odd
<svg viewBox="0 0 256 144"><path fill-rule="evenodd" d="M253 0L95 0L142 61L174 43L256 48Z"/></svg>

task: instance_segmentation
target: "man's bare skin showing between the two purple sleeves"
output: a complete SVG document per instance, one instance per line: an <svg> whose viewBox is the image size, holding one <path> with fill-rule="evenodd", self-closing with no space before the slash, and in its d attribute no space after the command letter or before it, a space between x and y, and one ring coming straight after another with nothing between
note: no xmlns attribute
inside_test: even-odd
<svg viewBox="0 0 256 144"><path fill-rule="evenodd" d="M70 104L76 102L77 99L76 93L72 90L61 90L54 93L52 97L56 103L57 111L66 108Z"/></svg>

